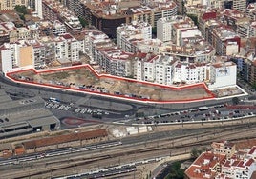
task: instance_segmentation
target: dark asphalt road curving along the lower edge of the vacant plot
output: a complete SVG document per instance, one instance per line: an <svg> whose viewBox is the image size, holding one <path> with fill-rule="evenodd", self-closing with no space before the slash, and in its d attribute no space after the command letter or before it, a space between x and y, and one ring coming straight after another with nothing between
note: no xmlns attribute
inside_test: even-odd
<svg viewBox="0 0 256 179"><path fill-rule="evenodd" d="M134 115L136 112L143 112L145 115L161 114L170 111L177 111L181 109L192 109L200 106L212 106L215 104L224 104L230 101L230 99L223 100L210 100L202 102L193 103L180 103L180 104L143 104L138 102L117 100L105 96L96 96L91 94L79 93L69 91L67 89L50 89L44 87L36 87L25 84L13 83L9 79L0 76L0 85L2 89L6 92L12 94L12 97L30 97L30 96L40 96L44 99L49 99L50 97L55 97L60 99L64 103L76 103L78 106L86 106L93 109L110 109L126 111L126 114ZM129 106L123 107L123 104ZM125 114L125 115L126 115ZM122 116L123 117L123 116Z"/></svg>

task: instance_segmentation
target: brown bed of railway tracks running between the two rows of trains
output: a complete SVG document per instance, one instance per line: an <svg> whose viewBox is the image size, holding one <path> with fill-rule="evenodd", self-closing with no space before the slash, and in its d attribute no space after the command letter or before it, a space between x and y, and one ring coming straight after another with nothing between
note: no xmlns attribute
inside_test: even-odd
<svg viewBox="0 0 256 179"><path fill-rule="evenodd" d="M201 148L208 146L213 141L218 140L242 140L255 138L256 123L241 124L236 126L225 127L223 129L203 129L202 132L181 135L173 138L166 138L157 141L147 141L144 144L133 146L121 146L112 150L96 151L94 155L82 157L69 156L68 158L56 160L54 162L34 162L36 169L5 170L2 177L5 178L49 178L50 176L61 175L61 171L70 170L74 174L74 169L96 169L108 165L117 165L118 163L132 162L133 160L143 160L149 157L159 157L170 155L179 155L189 153L192 148ZM125 149L124 149L125 148ZM120 161L122 158L122 161ZM63 173L62 173L63 174ZM68 173L67 173L68 174Z"/></svg>

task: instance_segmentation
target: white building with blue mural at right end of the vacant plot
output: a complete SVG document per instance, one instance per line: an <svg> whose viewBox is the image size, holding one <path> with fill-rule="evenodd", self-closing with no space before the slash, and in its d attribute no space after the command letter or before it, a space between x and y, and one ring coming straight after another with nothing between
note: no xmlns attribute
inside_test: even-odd
<svg viewBox="0 0 256 179"><path fill-rule="evenodd" d="M221 89L236 85L237 66L233 62L217 62L210 66L209 89Z"/></svg>

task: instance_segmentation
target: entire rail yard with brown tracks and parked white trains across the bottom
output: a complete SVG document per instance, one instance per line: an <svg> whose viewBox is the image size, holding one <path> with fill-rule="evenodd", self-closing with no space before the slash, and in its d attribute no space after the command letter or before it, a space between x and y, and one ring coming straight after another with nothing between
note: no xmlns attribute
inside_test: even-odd
<svg viewBox="0 0 256 179"><path fill-rule="evenodd" d="M1 165L0 171L5 178L99 178L102 175L105 178L114 175L143 178L146 171L150 172L145 169L146 166L173 156L188 154L193 147L207 147L216 140L246 140L255 137L255 134L255 117L211 128L203 125L195 129L156 129L154 132L126 137L114 143L108 141L109 144L101 144L100 148L70 148L66 152L54 151L60 154L40 157L39 153L34 153L29 160L24 160L26 156L14 157L8 159L14 162ZM3 161L0 163L3 164Z"/></svg>

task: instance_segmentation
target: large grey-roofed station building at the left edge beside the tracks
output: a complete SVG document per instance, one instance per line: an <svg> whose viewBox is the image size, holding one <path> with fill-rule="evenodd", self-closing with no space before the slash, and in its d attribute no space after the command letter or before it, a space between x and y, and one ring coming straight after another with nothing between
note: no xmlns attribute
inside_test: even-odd
<svg viewBox="0 0 256 179"><path fill-rule="evenodd" d="M12 100L0 90L0 139L60 129L59 120L44 104L40 97Z"/></svg>

